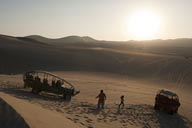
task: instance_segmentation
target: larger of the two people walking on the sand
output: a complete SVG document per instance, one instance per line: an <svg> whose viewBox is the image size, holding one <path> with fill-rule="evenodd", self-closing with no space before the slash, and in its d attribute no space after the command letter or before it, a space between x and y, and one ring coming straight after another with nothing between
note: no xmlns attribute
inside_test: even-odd
<svg viewBox="0 0 192 128"><path fill-rule="evenodd" d="M106 95L103 90L100 91L99 95L96 98L98 98L97 108L99 109L101 107L102 109L104 109Z"/></svg>

